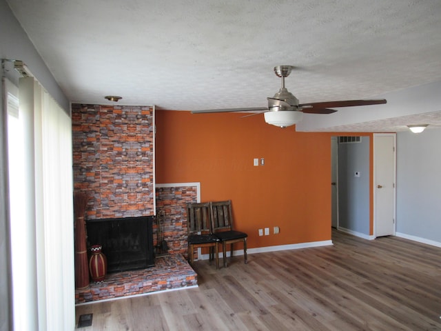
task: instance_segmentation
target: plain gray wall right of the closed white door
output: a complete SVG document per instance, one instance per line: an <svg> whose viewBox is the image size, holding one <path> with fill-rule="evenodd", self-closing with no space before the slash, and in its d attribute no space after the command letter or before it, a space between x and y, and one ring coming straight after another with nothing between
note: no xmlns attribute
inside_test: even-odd
<svg viewBox="0 0 441 331"><path fill-rule="evenodd" d="M396 231L441 243L441 130L397 134Z"/></svg>

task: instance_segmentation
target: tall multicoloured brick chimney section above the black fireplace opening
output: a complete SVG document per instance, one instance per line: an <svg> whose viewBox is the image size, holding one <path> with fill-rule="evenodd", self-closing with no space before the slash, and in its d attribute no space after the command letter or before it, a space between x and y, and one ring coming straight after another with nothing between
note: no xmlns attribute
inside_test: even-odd
<svg viewBox="0 0 441 331"><path fill-rule="evenodd" d="M85 219L154 215L154 112L150 106L72 104L74 190Z"/></svg>

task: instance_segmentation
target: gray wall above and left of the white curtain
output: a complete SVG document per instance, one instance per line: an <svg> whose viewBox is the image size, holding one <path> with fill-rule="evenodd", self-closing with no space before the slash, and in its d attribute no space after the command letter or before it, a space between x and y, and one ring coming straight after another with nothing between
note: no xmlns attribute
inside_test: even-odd
<svg viewBox="0 0 441 331"><path fill-rule="evenodd" d="M28 35L21 28L5 0L0 0L0 58L18 59L26 63L32 74L58 101L61 108L70 112L70 102L65 97L45 63L35 50ZM17 84L18 75L7 63L6 77ZM3 108L3 83L0 81L0 331L12 330L10 304L10 263L8 228L8 190L6 158L5 110Z"/></svg>

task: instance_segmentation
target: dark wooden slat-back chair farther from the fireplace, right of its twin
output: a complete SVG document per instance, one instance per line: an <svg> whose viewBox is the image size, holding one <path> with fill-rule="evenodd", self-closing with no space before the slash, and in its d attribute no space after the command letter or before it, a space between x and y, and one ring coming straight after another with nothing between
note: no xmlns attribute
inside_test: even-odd
<svg viewBox="0 0 441 331"><path fill-rule="evenodd" d="M210 203L212 212L213 234L220 240L223 250L223 266L227 267L227 245L231 245L230 257L233 257L234 243L243 242L243 257L247 260L247 237L248 234L233 230L232 201L216 201Z"/></svg>

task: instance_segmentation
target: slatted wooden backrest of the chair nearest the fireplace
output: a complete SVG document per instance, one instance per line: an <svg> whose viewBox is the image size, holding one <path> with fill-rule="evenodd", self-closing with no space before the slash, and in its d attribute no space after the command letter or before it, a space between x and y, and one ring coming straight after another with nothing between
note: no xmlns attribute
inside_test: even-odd
<svg viewBox="0 0 441 331"><path fill-rule="evenodd" d="M211 234L212 217L209 202L187 203L188 234Z"/></svg>

